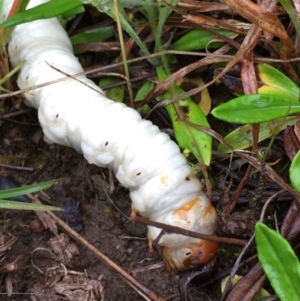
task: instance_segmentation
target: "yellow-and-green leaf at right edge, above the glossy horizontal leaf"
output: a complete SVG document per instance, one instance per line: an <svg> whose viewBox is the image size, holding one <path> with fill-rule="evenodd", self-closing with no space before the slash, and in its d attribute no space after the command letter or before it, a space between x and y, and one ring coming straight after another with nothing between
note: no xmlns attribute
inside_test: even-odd
<svg viewBox="0 0 300 301"><path fill-rule="evenodd" d="M265 84L258 89L259 94L289 95L299 97L298 86L287 76L267 64L258 64L258 75ZM279 90L279 91L278 91ZM280 93L282 92L282 93Z"/></svg>

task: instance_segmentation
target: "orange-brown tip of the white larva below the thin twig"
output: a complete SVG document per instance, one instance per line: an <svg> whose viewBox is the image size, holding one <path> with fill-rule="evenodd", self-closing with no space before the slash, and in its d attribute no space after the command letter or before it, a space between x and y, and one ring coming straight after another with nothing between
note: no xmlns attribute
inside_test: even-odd
<svg viewBox="0 0 300 301"><path fill-rule="evenodd" d="M213 259L219 249L218 242L201 240L199 244L193 244L180 249L164 247L163 255L169 269L183 271L203 265Z"/></svg>

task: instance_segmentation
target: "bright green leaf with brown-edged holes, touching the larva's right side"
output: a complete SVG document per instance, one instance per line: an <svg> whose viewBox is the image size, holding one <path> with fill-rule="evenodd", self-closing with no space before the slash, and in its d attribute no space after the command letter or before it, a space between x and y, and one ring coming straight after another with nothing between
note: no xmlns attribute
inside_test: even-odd
<svg viewBox="0 0 300 301"><path fill-rule="evenodd" d="M159 80L166 78L166 74L162 67L158 67L156 72ZM171 87L170 91L173 91L177 95L184 92L175 84ZM163 98L168 99L171 98L171 96L171 92L166 92L163 95ZM204 164L209 165L211 159L212 137L199 129L188 125L184 120L181 120L177 114L176 106L182 109L182 112L184 112L185 115L184 118L191 123L209 127L206 117L191 98L185 98L166 106L166 110L172 120L175 138L179 146L183 149L189 149L199 161L201 161L202 157Z"/></svg>

